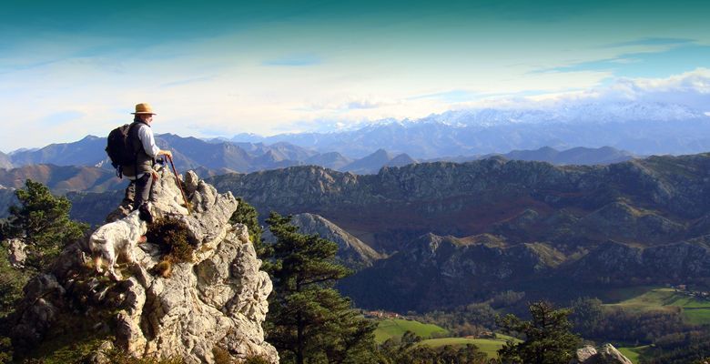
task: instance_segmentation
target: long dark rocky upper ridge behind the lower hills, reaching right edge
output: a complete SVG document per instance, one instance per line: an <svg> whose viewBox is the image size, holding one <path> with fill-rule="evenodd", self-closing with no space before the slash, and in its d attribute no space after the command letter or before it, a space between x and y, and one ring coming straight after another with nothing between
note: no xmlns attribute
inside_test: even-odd
<svg viewBox="0 0 710 364"><path fill-rule="evenodd" d="M709 170L710 154L593 167L491 157L383 167L368 176L306 166L212 180L259 211L318 214L392 253L427 232L500 232L514 242L585 247L695 238L710 233L699 221L710 215ZM553 221L561 211L564 227Z"/></svg>

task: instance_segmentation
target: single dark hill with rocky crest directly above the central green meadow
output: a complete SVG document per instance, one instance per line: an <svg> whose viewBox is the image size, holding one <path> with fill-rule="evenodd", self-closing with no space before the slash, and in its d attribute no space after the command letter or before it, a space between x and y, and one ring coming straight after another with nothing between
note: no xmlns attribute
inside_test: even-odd
<svg viewBox="0 0 710 364"><path fill-rule="evenodd" d="M543 243L507 246L491 235L425 234L390 258L344 278L340 291L362 308L426 311L482 300L553 273L564 255ZM373 294L373 292L387 292Z"/></svg>

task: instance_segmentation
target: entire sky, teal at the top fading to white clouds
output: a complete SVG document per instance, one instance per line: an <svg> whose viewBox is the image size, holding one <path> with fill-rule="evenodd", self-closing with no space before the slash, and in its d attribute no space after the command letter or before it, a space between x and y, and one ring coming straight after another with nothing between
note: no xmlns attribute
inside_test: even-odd
<svg viewBox="0 0 710 364"><path fill-rule="evenodd" d="M98 4L97 4L98 3ZM0 150L320 130L502 100L710 99L707 1L44 2L0 10ZM634 85L629 87L629 85Z"/></svg>

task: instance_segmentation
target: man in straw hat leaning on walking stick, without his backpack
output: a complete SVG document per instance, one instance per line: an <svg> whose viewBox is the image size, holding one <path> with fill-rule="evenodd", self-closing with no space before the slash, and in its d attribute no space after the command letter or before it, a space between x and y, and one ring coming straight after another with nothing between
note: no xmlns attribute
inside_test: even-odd
<svg viewBox="0 0 710 364"><path fill-rule="evenodd" d="M136 210L150 199L153 182L158 178L157 171L153 168L156 157L172 158L173 154L156 146L150 124L153 123L153 116L157 114L150 105L137 104L136 112L131 114L134 119L128 130L127 145L133 147L136 161L132 165L121 167L123 175L131 181L126 188L124 203L133 202L133 209Z"/></svg>

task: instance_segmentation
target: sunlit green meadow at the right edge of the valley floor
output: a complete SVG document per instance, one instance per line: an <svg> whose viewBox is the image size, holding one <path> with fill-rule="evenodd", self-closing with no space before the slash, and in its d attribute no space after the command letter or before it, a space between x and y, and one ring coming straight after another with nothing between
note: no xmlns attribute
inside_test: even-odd
<svg viewBox="0 0 710 364"><path fill-rule="evenodd" d="M676 292L674 288L650 288L634 297L604 306L636 311L680 308L689 323L710 324L710 300L690 297L684 292Z"/></svg>

